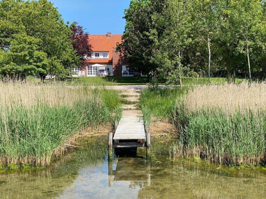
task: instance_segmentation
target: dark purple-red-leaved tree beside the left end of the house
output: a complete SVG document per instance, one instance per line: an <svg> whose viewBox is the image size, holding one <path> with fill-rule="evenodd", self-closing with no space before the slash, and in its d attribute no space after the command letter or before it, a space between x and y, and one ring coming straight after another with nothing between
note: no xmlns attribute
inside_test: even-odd
<svg viewBox="0 0 266 199"><path fill-rule="evenodd" d="M89 33L84 32L85 29L77 24L77 22L73 22L70 25L70 29L72 30L71 40L74 50L76 50L77 55L81 57L81 68L84 68L86 63L84 57L91 57L93 51L92 45L89 43Z"/></svg>

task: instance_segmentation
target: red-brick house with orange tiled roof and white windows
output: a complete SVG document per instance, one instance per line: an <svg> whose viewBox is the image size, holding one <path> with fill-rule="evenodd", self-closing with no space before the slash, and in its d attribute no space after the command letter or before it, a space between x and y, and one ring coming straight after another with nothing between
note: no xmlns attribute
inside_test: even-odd
<svg viewBox="0 0 266 199"><path fill-rule="evenodd" d="M94 77L109 75L117 77L134 76L129 70L128 61L115 48L122 42L122 34L90 34L89 42L92 45L92 56L87 57L87 64L84 69L72 68L78 76Z"/></svg>

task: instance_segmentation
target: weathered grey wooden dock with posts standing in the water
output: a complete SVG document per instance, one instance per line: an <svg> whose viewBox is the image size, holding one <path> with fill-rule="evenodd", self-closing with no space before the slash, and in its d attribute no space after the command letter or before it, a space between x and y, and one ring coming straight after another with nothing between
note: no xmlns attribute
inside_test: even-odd
<svg viewBox="0 0 266 199"><path fill-rule="evenodd" d="M113 157L113 148L129 147L146 147L146 158L150 157L150 133L142 116L122 116L119 123L115 121L114 131L114 137L113 133L109 133L108 159Z"/></svg>

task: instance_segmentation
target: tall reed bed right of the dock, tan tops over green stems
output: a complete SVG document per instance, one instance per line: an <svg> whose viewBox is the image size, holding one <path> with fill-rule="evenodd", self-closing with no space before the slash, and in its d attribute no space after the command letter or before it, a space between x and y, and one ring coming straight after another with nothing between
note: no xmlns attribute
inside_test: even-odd
<svg viewBox="0 0 266 199"><path fill-rule="evenodd" d="M229 165L265 162L266 84L203 85L175 106L178 157Z"/></svg>

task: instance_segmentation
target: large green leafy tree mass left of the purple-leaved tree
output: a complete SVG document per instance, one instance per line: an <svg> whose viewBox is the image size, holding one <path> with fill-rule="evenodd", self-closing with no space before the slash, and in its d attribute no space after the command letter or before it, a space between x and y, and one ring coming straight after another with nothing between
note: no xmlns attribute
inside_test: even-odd
<svg viewBox="0 0 266 199"><path fill-rule="evenodd" d="M71 30L47 0L0 1L0 72L12 78L64 76L79 57Z"/></svg>

